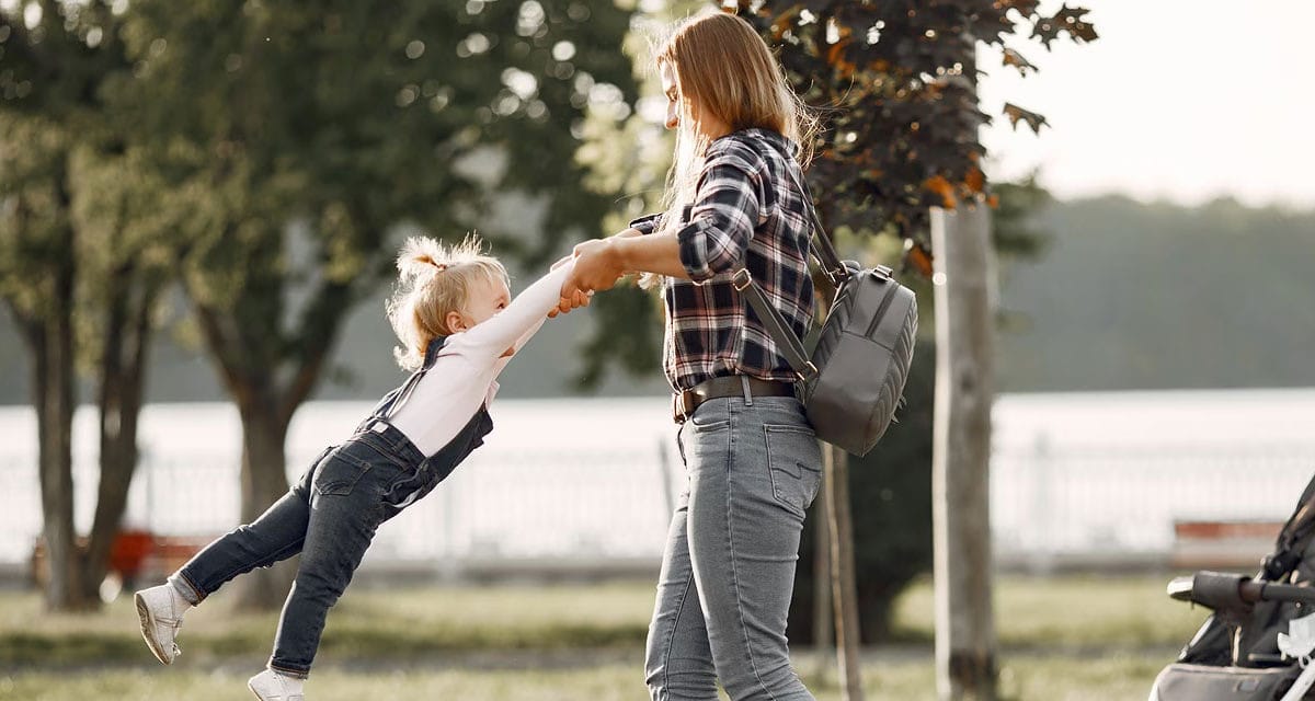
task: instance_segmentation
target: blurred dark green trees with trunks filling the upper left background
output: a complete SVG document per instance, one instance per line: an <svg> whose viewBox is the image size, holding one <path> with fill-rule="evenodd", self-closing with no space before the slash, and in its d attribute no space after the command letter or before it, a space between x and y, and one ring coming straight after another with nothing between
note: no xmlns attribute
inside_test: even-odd
<svg viewBox="0 0 1315 701"><path fill-rule="evenodd" d="M124 443L101 451L103 473L118 475L100 495L112 531L135 466L143 349L176 284L242 417L254 518L287 489L288 423L408 228L479 228L502 255L540 263L593 234L606 196L562 183L583 180L585 118L623 118L635 99L613 49L630 16L537 0L0 8L0 297L32 359L51 605L91 602L104 559L95 535L87 552L72 546L74 359L97 337L124 341L80 364L113 417L103 445ZM480 226L512 193L537 220ZM272 604L280 588L260 579L252 596Z"/></svg>

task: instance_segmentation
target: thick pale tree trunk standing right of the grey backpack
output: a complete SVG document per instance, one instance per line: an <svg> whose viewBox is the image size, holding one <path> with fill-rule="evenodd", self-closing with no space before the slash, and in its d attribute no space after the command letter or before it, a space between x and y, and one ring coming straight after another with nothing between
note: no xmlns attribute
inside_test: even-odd
<svg viewBox="0 0 1315 701"><path fill-rule="evenodd" d="M942 700L994 701L990 214L985 205L932 209L931 238L936 295L936 688Z"/></svg>

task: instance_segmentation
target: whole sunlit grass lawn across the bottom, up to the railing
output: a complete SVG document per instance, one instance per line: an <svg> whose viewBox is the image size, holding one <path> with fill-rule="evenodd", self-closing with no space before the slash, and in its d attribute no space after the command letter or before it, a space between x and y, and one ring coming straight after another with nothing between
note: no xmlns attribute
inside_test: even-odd
<svg viewBox="0 0 1315 701"><path fill-rule="evenodd" d="M1166 576L997 581L1001 692L1016 700L1145 698L1203 618L1164 596ZM356 589L329 619L308 692L316 701L392 698L635 700L652 583ZM932 592L897 605L898 637L864 655L871 700L935 698ZM0 698L245 700L275 614L234 616L222 593L187 617L184 655L150 658L130 597L89 617L45 617L36 593L0 593ZM796 664L836 700L810 651Z"/></svg>

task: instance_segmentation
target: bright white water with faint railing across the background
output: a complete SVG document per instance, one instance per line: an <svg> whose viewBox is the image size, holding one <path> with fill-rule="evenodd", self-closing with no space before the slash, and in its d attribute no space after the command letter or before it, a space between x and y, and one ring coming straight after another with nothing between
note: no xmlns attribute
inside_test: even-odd
<svg viewBox="0 0 1315 701"><path fill-rule="evenodd" d="M368 409L304 408L289 479ZM665 412L661 399L500 401L488 445L387 523L364 567L655 567L684 476ZM33 421L0 410L0 564L11 569L41 530ZM1005 566L1164 558L1176 521L1282 521L1315 473L1315 391L1005 396L994 422L992 520ZM79 412L82 529L96 491L93 431L92 413ZM238 438L226 405L149 408L125 525L188 537L233 527Z"/></svg>

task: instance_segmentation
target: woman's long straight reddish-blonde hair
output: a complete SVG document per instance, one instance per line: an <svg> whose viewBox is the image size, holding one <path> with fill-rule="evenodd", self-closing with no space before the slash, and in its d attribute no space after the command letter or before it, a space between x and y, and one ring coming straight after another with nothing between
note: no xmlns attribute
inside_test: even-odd
<svg viewBox="0 0 1315 701"><path fill-rule="evenodd" d="M663 42L656 58L671 66L682 103L664 203L668 228L679 225L680 208L694 199L709 145L694 129L692 100L731 132L760 128L785 135L798 147L796 158L807 162L818 120L748 22L725 12L692 17Z"/></svg>

